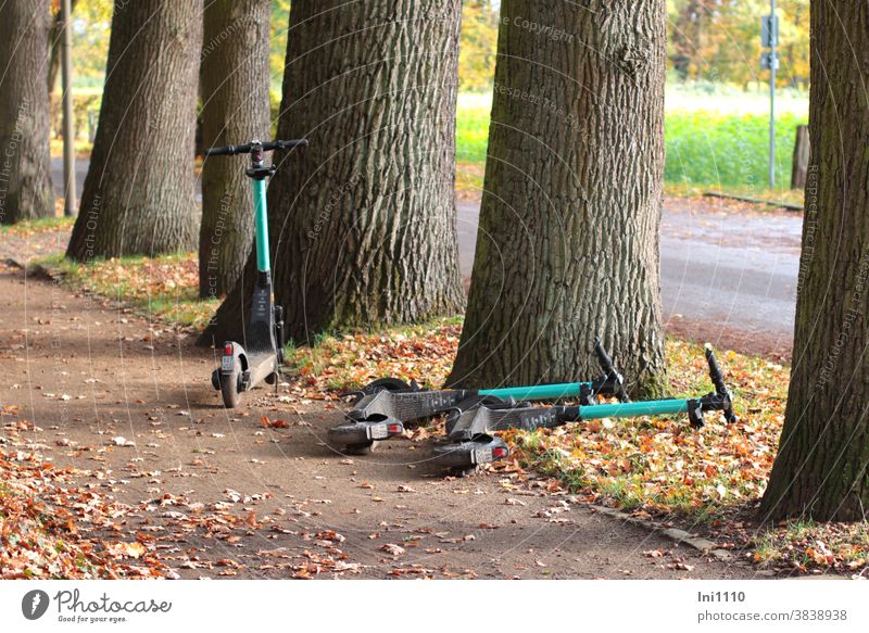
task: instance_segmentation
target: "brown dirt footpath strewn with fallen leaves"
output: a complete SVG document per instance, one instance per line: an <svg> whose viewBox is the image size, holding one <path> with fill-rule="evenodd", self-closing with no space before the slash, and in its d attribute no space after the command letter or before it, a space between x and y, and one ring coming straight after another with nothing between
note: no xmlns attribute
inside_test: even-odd
<svg viewBox="0 0 869 633"><path fill-rule="evenodd" d="M340 409L288 384L226 410L217 358L192 336L8 265L0 293L0 439L128 506L113 537L146 535L171 575L753 575L533 481L444 479L427 464L431 439L340 455L325 444Z"/></svg>

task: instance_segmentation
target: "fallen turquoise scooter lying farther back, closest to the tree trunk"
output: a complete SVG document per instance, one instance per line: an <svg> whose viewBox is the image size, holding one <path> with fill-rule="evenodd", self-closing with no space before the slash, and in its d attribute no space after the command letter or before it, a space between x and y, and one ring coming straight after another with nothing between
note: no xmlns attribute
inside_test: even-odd
<svg viewBox="0 0 869 633"><path fill-rule="evenodd" d="M420 389L394 378L375 380L355 395L353 408L347 413L349 422L329 429L329 442L344 446L350 454L365 454L375 441L388 440L404 433L404 422L426 418L448 410L468 412L480 405L516 405L517 401L576 398L584 405L596 402L597 395L628 400L624 379L600 340L594 354L603 375L590 382L565 382L501 389Z"/></svg>

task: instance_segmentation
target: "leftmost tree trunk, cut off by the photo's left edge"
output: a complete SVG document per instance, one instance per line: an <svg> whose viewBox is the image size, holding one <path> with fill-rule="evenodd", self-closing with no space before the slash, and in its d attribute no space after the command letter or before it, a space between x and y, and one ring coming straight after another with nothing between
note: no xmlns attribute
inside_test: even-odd
<svg viewBox="0 0 869 633"><path fill-rule="evenodd" d="M0 224L54 216L48 0L0 2Z"/></svg>

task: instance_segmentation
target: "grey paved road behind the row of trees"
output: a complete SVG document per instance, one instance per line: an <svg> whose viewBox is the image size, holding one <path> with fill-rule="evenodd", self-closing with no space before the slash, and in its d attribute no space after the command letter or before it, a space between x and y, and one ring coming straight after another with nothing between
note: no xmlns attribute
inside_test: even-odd
<svg viewBox="0 0 869 633"><path fill-rule="evenodd" d="M52 161L63 193L63 162ZM87 162L78 161L81 187ZM667 330L745 352L788 356L793 339L802 215L722 211L667 199L662 224L662 294ZM470 276L478 202L458 203L462 274Z"/></svg>

